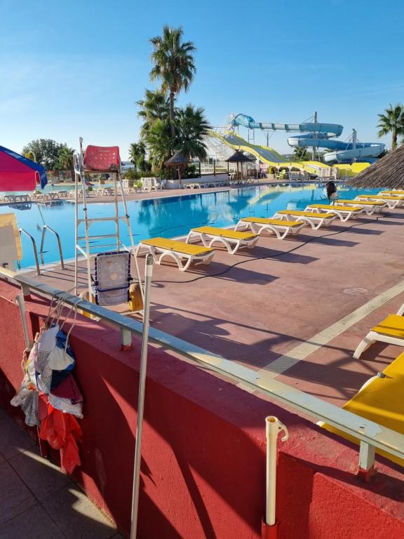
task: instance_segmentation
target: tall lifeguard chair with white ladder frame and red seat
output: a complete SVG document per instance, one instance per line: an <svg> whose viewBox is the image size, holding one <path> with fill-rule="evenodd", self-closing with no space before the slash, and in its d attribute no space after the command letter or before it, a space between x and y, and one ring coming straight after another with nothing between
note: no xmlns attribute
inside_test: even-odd
<svg viewBox="0 0 404 539"><path fill-rule="evenodd" d="M83 138L80 137L79 152L74 152L74 175L75 175L75 250L74 250L74 293L79 294L79 288L88 288L88 300L93 298L93 272L91 258L95 254L102 253L100 248L107 251L126 251L133 254L135 260L135 270L140 286L142 300L144 299L144 291L142 281L140 280L139 266L135 256L135 243L133 241L132 228L130 226L130 217L128 206L126 204L125 194L123 193L123 185L121 178L121 159L119 157L119 147L100 147L88 146L86 152L83 152ZM114 189L114 214L109 217L88 217L87 192L85 175L100 175L109 174L113 180ZM118 186L123 204L123 215L119 214L119 197ZM83 217L79 217L79 201L82 200ZM130 238L130 248L121 241L120 222L123 221L128 227ZM108 234L90 234L90 227L96 222L111 222L112 231ZM84 235L79 231L80 225L84 225ZM103 241L106 243L97 243L93 245L93 241ZM79 267L79 257L83 256L86 259L86 268ZM87 284L79 283L79 273L87 274Z"/></svg>

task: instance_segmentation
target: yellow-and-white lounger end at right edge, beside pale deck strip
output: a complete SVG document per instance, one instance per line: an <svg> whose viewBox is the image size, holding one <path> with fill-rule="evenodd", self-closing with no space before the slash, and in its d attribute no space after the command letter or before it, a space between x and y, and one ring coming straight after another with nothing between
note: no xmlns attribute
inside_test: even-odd
<svg viewBox="0 0 404 539"><path fill-rule="evenodd" d="M354 358L358 359L361 354L374 342L386 342L389 345L404 346L404 303L397 314L389 314L384 320L373 327L368 335L361 340L354 352Z"/></svg>

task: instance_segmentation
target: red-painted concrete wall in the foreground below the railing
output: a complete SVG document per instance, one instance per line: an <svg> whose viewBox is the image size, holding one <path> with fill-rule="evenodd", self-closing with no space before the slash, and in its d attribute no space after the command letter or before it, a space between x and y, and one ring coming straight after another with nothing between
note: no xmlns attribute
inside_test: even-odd
<svg viewBox="0 0 404 539"><path fill-rule="evenodd" d="M24 348L18 289L0 281L0 405L20 384ZM33 333L47 312L27 302ZM85 405L82 465L75 477L119 528L130 527L140 342L83 317L72 331ZM403 475L385 463L370 484L358 453L315 425L151 347L145 399L139 536L258 538L264 514L266 415L288 426L278 453L278 537L404 537Z"/></svg>

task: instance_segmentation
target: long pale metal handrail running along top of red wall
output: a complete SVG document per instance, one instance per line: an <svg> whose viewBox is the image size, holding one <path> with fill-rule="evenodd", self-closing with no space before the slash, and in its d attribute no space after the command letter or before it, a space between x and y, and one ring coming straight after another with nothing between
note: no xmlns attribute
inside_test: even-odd
<svg viewBox="0 0 404 539"><path fill-rule="evenodd" d="M1 276L7 280L17 282L21 286L24 295L29 295L30 291L34 291L47 298L62 299L67 305L78 306L81 311L113 324L121 331L123 342L128 342L128 336L130 338L132 333L142 334L143 325L140 321L124 317L122 314L107 310L105 307L90 303L78 298L76 295L60 291L3 267L0 267ZM309 415L309 417L315 418L316 422L318 420L326 422L337 430L349 434L350 437L358 439L361 444L360 467L363 471L367 472L374 464L375 448L404 460L404 435L399 432L362 418L343 408L338 408L334 404L299 391L290 385L269 378L259 378L258 372L250 368L236 364L234 361L203 350L201 347L158 329L150 328L149 338L152 342L175 352L180 352L188 359L208 367L211 371L219 373L225 378L230 378L237 383L251 387L253 390L260 390L271 400L286 404L295 411L303 413L305 417Z"/></svg>

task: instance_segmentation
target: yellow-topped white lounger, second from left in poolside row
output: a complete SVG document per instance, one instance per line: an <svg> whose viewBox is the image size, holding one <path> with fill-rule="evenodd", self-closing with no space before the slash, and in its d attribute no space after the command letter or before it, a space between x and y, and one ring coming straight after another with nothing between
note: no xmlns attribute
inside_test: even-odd
<svg viewBox="0 0 404 539"><path fill-rule="evenodd" d="M228 228L199 227L192 228L187 236L187 243L194 237L200 239L204 246L210 247L216 241L220 241L227 251L234 255L241 247L252 249L259 236L251 232L238 232Z"/></svg>

